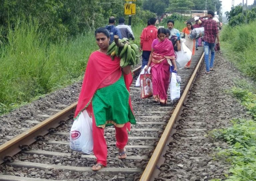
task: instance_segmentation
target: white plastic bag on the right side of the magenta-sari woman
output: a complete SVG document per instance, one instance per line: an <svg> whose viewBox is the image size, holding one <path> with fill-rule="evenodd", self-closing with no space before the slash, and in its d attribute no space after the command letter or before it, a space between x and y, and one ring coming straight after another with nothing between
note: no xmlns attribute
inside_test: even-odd
<svg viewBox="0 0 256 181"><path fill-rule="evenodd" d="M172 72L172 78L170 83L170 96L171 100L180 98L180 77L178 77L177 73L175 72Z"/></svg>

